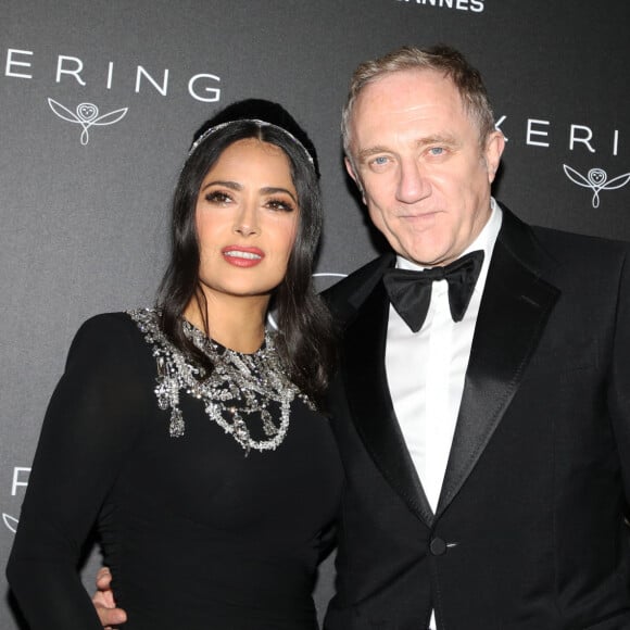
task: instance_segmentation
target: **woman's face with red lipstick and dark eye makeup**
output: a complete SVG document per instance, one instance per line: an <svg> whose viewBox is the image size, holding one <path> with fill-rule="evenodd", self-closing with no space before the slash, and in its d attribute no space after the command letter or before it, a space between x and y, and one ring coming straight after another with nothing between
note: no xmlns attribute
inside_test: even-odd
<svg viewBox="0 0 630 630"><path fill-rule="evenodd" d="M255 138L227 147L197 198L199 277L206 299L268 300L287 273L299 214L289 159L280 148Z"/></svg>

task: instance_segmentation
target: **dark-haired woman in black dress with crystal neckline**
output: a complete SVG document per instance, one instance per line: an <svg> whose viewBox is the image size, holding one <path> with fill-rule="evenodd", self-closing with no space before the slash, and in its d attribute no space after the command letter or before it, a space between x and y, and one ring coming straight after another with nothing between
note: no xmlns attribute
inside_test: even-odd
<svg viewBox="0 0 630 630"><path fill-rule="evenodd" d="M317 169L294 125L261 101L211 121L175 191L159 307L77 333L8 567L32 630L101 628L76 571L94 522L126 630L317 627L341 469L317 412Z"/></svg>

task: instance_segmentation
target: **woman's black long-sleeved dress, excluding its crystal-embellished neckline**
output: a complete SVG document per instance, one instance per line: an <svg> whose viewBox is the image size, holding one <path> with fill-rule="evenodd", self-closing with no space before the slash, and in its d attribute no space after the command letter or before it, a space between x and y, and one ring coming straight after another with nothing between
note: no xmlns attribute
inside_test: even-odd
<svg viewBox="0 0 630 630"><path fill-rule="evenodd" d="M8 576L33 630L101 628L76 571L96 524L126 630L316 628L312 590L341 490L326 418L298 398L274 451L245 451L179 393L128 314L78 331L43 423Z"/></svg>

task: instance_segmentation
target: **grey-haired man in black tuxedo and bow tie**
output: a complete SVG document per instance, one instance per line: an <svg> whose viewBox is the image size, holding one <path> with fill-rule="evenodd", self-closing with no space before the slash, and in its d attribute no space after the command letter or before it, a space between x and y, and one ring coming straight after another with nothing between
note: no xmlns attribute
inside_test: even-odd
<svg viewBox="0 0 630 630"><path fill-rule="evenodd" d="M630 629L630 249L494 202L504 139L450 48L362 64L343 136L395 255L329 291L326 629Z"/></svg>

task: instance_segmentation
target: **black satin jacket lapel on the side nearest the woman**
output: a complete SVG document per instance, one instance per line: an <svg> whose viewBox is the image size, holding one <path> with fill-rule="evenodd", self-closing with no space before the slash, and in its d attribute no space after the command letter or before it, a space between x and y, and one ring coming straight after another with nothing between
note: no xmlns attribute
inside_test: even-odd
<svg viewBox="0 0 630 630"><path fill-rule="evenodd" d="M342 371L356 429L375 464L408 507L433 520L398 424L385 370L389 300L378 281L344 333Z"/></svg>

